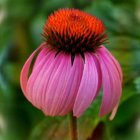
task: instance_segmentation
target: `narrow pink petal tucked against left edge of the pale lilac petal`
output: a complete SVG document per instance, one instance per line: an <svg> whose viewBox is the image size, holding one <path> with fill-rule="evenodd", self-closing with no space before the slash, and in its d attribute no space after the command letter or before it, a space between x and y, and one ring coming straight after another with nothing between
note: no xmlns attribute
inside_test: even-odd
<svg viewBox="0 0 140 140"><path fill-rule="evenodd" d="M65 115L67 112L72 111L83 74L83 67L83 58L80 55L76 55L74 63L71 68L68 69L67 73L67 84L63 93L63 109L62 112L60 112L60 115L62 116Z"/></svg>

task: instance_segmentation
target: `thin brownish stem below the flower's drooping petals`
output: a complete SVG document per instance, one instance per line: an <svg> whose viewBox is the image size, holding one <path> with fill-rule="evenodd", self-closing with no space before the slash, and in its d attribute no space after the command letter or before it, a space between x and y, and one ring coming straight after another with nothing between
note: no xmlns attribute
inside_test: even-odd
<svg viewBox="0 0 140 140"><path fill-rule="evenodd" d="M73 113L70 113L70 123L69 123L69 127L70 127L70 136L71 136L71 140L78 140L78 136L77 136L77 118L73 116Z"/></svg>

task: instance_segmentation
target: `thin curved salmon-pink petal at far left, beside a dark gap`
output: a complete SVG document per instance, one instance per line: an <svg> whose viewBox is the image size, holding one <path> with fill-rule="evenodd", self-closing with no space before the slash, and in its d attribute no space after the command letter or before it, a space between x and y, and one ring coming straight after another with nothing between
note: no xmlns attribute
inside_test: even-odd
<svg viewBox="0 0 140 140"><path fill-rule="evenodd" d="M21 75L20 75L20 84L21 84L21 89L23 91L23 93L26 95L26 85L27 85L27 81L28 81L28 73L29 73L29 69L30 69L30 65L31 62L35 56L35 54L41 49L43 48L45 44L42 43L32 54L31 56L27 59L26 63L24 64L22 71L21 71Z"/></svg>

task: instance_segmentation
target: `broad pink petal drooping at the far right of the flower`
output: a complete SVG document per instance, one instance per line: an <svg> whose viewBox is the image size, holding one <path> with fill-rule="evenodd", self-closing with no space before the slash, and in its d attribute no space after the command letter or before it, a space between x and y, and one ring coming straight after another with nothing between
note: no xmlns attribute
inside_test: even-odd
<svg viewBox="0 0 140 140"><path fill-rule="evenodd" d="M118 104L122 92L121 73L119 65L114 61L111 54L105 53L104 49L99 48L97 55L102 69L103 80L103 99L100 109L100 116L111 112ZM115 63L114 63L115 62Z"/></svg>

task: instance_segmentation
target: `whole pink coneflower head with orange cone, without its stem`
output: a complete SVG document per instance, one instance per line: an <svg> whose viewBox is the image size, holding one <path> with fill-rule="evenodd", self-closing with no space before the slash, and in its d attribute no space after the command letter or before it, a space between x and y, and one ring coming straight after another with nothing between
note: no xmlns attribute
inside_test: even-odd
<svg viewBox="0 0 140 140"><path fill-rule="evenodd" d="M44 42L23 66L20 82L25 97L49 116L69 112L80 117L103 87L100 116L114 117L122 91L117 60L102 45L103 22L76 9L51 14Z"/></svg>

